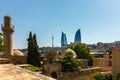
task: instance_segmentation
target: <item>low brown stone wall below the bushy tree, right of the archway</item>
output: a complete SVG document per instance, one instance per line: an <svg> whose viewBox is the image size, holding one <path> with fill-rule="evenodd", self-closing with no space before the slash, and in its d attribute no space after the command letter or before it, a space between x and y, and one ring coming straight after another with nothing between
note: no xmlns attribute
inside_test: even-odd
<svg viewBox="0 0 120 80"><path fill-rule="evenodd" d="M83 69L78 73L66 72L62 73L61 79L58 80L94 80L92 77L93 73L99 71L101 71L100 67Z"/></svg>

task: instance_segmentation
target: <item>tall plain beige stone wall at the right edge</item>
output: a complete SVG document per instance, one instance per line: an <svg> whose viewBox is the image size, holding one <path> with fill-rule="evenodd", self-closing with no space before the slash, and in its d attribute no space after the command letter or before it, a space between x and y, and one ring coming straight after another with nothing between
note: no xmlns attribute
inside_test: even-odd
<svg viewBox="0 0 120 80"><path fill-rule="evenodd" d="M112 72L113 75L120 71L120 47L112 50Z"/></svg>

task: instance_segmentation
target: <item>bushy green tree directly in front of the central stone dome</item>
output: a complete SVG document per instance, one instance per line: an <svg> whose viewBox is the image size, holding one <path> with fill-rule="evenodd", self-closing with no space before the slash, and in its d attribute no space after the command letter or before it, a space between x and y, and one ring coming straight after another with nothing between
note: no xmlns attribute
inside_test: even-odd
<svg viewBox="0 0 120 80"><path fill-rule="evenodd" d="M80 62L73 58L73 54L68 52L63 58L59 58L57 62L62 65L62 72L79 72L81 70Z"/></svg>

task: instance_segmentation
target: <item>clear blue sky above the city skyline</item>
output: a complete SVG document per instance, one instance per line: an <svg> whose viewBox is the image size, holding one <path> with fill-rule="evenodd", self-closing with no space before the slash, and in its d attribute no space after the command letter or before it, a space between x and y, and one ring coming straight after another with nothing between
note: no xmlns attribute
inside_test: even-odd
<svg viewBox="0 0 120 80"><path fill-rule="evenodd" d="M0 24L6 15L15 26L14 48L27 48L29 32L36 33L39 47L61 46L61 32L68 43L81 29L82 42L120 40L120 0L0 0ZM0 32L2 32L0 30Z"/></svg>

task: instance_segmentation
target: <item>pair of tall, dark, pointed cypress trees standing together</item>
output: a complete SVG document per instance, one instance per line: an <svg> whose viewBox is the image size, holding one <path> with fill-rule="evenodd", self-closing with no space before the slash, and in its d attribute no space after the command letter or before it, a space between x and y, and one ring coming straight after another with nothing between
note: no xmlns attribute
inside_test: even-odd
<svg viewBox="0 0 120 80"><path fill-rule="evenodd" d="M27 63L33 66L40 66L40 53L37 45L36 35L32 36L32 32L29 33L28 38L28 55Z"/></svg>

